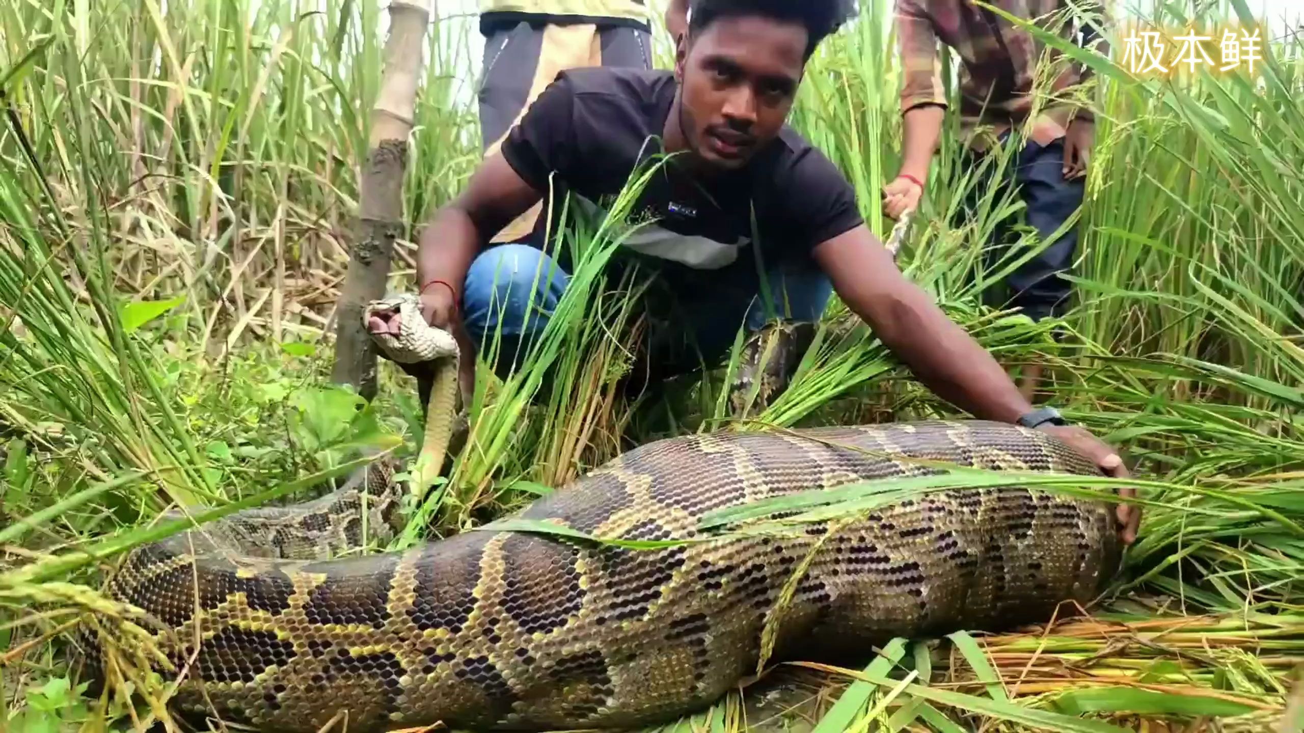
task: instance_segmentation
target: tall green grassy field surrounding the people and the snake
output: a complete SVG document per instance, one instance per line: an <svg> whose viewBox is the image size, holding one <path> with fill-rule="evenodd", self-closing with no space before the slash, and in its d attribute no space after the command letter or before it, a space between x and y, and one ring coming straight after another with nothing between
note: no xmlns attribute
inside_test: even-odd
<svg viewBox="0 0 1304 733"><path fill-rule="evenodd" d="M889 9L862 4L824 43L790 119L884 237ZM1167 4L1149 21L1251 10ZM360 447L415 451L412 378L382 361L372 402L330 378L386 23L357 0L0 4L0 730L173 729L155 691L86 693L72 631L124 613L99 593L115 560L156 539L170 506L299 501ZM411 287L416 228L480 159L468 27L437 10L426 35L395 290ZM1304 726L1301 51L1273 37L1252 73L1090 61L1106 85L1061 322L981 305L1001 273L979 247L1018 202L981 188L945 134L904 243L909 278L1012 370L1046 364L1043 399L1123 447L1145 519L1111 592L1037 627L896 639L863 668L781 665L665 730ZM971 193L978 210L958 217ZM614 240L578 223L574 241ZM516 376L481 365L468 447L399 544L482 524L634 445L728 426L728 365L618 399L626 355L595 323L632 327L630 283L600 263L576 271ZM816 339L752 419L960 415L841 304ZM546 366L565 387L541 390Z"/></svg>

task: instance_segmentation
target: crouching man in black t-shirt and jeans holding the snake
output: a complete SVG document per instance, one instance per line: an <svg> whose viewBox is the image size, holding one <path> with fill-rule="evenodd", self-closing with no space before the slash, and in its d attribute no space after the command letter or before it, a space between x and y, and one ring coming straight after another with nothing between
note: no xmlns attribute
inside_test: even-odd
<svg viewBox="0 0 1304 733"><path fill-rule="evenodd" d="M634 261L659 269L679 308L670 335L649 339L649 363L682 359L678 333L704 360L719 359L739 325L755 331L764 323L763 280L797 321L818 320L837 292L952 404L1052 432L1110 475L1127 476L1119 456L1089 432L1064 425L1051 410L1034 411L1000 365L902 277L861 218L852 185L785 124L806 61L842 20L840 5L695 0L673 73L558 74L422 232L422 316L451 330L464 355L496 334L516 339L515 348L528 346L569 275L545 248L484 249L490 232L556 188L593 206L619 193L640 163L669 153L635 202L656 223L622 245ZM473 377L468 361L463 378ZM1132 541L1140 514L1120 506L1119 518Z"/></svg>

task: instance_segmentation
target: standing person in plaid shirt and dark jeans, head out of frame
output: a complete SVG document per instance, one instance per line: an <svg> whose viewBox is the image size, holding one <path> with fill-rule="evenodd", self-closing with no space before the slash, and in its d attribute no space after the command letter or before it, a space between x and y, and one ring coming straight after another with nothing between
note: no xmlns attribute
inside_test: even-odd
<svg viewBox="0 0 1304 733"><path fill-rule="evenodd" d="M1067 0L991 0L992 7L1011 16L1035 20L1046 30L1059 30L1065 38L1073 27ZM1099 14L1099 0L1080 0L1080 8ZM1089 46L1099 35L1085 23L1081 43ZM1035 321L1060 316L1071 295L1069 282L1060 273L1071 270L1077 249L1077 230L1055 232L1082 202L1084 180L1095 124L1088 104L1073 102L1073 87L1081 89L1090 69L1065 64L1048 89L1034 91L1037 63L1046 51L1026 30L1018 29L973 0L897 0L896 30L902 63L901 111L902 160L900 173L883 188L884 211L897 218L914 209L928 179L941 132L947 99L941 87L938 42L956 51L962 61L960 77L960 128L966 143L968 167L977 168L977 157L1004 145L1012 132L1020 132L1034 112L1035 95L1054 95L1030 120L1026 143L1018 151L1004 184L1013 184L1026 205L1028 223L1050 244L1011 273L1005 286L1008 303ZM1102 42L1103 43L1103 42ZM1102 51L1107 53L1107 50ZM986 185L977 187L985 190ZM1008 226L996 228L998 247L988 250L988 262L1004 248ZM1025 366L1021 390L1031 400L1041 380L1041 366Z"/></svg>

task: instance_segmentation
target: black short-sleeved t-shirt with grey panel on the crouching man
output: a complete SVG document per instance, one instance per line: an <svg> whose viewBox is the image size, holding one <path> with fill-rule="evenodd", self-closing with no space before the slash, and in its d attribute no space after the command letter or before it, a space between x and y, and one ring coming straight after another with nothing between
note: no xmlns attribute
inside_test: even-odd
<svg viewBox="0 0 1304 733"><path fill-rule="evenodd" d="M666 70L562 72L507 134L503 158L526 183L545 192L545 202L552 185L557 201L570 194L572 209L605 210L635 168L644 171L640 166L662 153L674 94L675 81ZM841 171L786 125L743 168L711 179L690 177L675 170L673 159L664 163L643 188L631 220L647 215L655 220L629 236L626 249L672 271L720 277L755 274L754 232L769 266L810 257L818 244L863 222Z"/></svg>

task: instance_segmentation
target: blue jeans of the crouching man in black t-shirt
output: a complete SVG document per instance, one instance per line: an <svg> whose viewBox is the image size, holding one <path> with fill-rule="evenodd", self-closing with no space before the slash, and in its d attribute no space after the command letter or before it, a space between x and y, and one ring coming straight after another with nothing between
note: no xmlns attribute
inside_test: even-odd
<svg viewBox="0 0 1304 733"><path fill-rule="evenodd" d="M745 271L746 266L737 270ZM696 274L694 274L696 275ZM653 377L691 372L720 360L733 346L739 326L747 333L765 325L769 310L751 277L698 275L705 287L678 288L674 314L652 318L648 357ZM788 321L818 321L833 293L828 277L814 262L778 266L767 274L773 313ZM528 353L548 325L570 283L570 274L550 256L528 244L499 244L481 252L467 271L463 320L477 350L497 337L496 370L506 377L512 363Z"/></svg>

